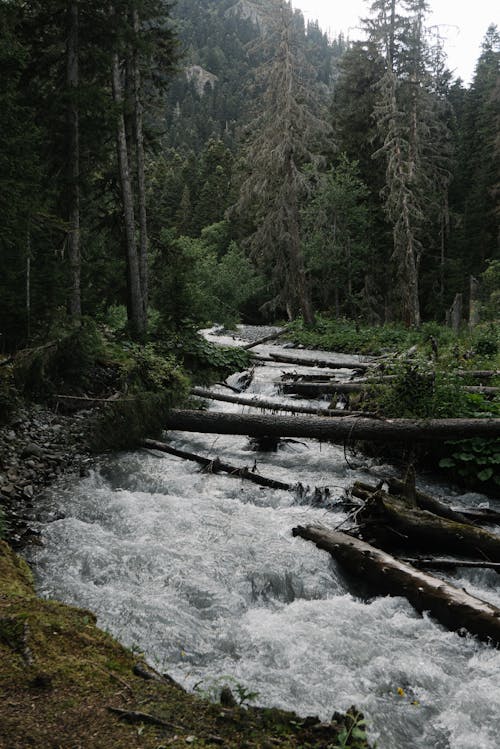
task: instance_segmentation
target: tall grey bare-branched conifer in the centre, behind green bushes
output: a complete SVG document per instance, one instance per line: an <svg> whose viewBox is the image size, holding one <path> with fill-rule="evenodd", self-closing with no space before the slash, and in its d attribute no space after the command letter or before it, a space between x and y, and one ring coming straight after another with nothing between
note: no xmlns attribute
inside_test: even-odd
<svg viewBox="0 0 500 749"><path fill-rule="evenodd" d="M306 68L298 59L290 6L282 3L273 21L274 34L265 40L276 52L261 69L262 114L249 128L238 211L252 217L248 245L270 276L270 307L286 310L289 317L300 311L310 324L313 311L301 247L300 208L306 189L302 168L313 159L311 146L323 123L307 101Z"/></svg>

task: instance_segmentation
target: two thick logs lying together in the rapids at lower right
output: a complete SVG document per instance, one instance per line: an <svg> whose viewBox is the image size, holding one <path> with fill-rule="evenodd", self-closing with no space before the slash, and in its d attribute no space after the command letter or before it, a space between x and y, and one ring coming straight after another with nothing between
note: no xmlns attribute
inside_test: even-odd
<svg viewBox="0 0 500 749"><path fill-rule="evenodd" d="M500 646L499 608L421 570L473 567L500 572L500 536L477 525L500 524L500 513L457 512L414 486L409 491L404 482L384 485L387 490L354 485L351 493L362 504L350 533L307 526L294 528L293 534L330 552L372 590L404 596L417 611L429 611L449 629ZM454 556L443 558L445 554Z"/></svg>

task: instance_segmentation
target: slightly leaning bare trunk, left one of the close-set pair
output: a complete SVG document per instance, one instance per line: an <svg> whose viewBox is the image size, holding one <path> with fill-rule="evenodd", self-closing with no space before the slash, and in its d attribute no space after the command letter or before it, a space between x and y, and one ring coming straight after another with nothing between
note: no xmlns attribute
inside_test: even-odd
<svg viewBox="0 0 500 749"><path fill-rule="evenodd" d="M111 12L113 16L116 15L114 6L111 6ZM134 196L130 178L127 134L125 117L123 113L123 85L121 80L120 61L117 51L115 51L113 54L112 65L113 100L118 108L116 136L121 198L125 223L125 243L128 274L128 315L132 335L137 338L141 338L146 332L146 314L144 311L141 292L139 256L137 253L137 242L135 236Z"/></svg>

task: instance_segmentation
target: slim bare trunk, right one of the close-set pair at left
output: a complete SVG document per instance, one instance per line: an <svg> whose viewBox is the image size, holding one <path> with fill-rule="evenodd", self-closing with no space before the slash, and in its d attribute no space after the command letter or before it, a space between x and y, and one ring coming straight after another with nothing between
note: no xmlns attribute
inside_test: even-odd
<svg viewBox="0 0 500 749"><path fill-rule="evenodd" d="M139 34L139 13L134 10L134 33ZM132 60L135 147L137 166L137 201L139 208L139 272L144 315L148 307L148 222L146 211L146 177L144 158L143 110L141 101L141 73L137 56L137 46Z"/></svg>

